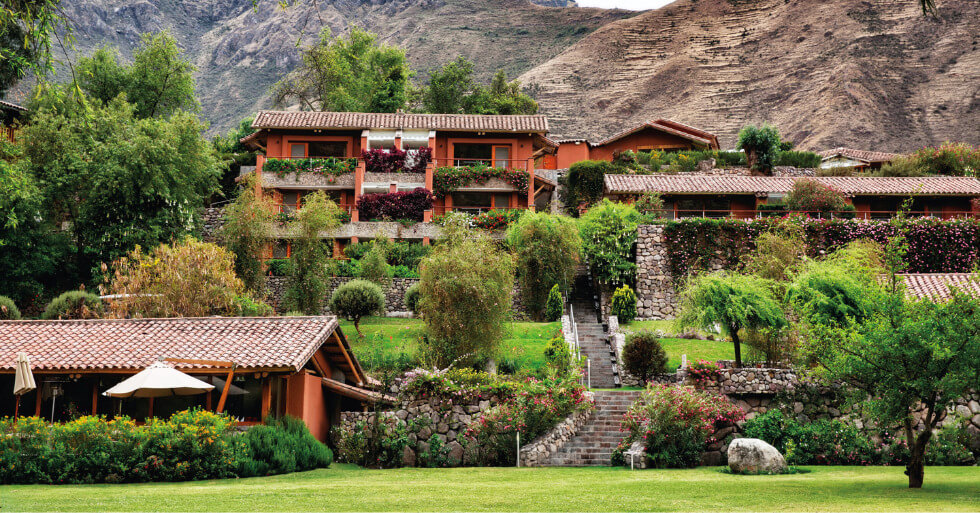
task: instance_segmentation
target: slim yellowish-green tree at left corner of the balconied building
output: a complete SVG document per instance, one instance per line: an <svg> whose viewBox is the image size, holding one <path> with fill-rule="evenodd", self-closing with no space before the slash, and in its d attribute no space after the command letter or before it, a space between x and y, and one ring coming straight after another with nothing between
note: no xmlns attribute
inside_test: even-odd
<svg viewBox="0 0 980 513"><path fill-rule="evenodd" d="M262 252L272 240L275 205L264 195L255 194L255 176L242 182L242 192L225 208L221 240L235 254L235 273L245 288L261 294L265 288Z"/></svg>

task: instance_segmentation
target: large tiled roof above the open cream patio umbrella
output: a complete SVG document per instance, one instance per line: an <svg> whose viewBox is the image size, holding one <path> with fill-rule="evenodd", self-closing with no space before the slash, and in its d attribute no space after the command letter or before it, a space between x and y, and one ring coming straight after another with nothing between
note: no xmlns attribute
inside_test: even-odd
<svg viewBox="0 0 980 513"><path fill-rule="evenodd" d="M0 370L12 370L23 351L35 371L136 371L159 358L298 371L337 329L336 317L0 321Z"/></svg>

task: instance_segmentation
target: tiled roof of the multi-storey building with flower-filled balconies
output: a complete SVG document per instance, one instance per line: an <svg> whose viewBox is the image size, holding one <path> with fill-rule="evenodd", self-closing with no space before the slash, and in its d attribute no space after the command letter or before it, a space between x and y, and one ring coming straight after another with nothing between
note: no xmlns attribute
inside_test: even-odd
<svg viewBox="0 0 980 513"><path fill-rule="evenodd" d="M547 133L542 115L381 114L368 112L315 112L263 110L252 128L417 129L485 132Z"/></svg>

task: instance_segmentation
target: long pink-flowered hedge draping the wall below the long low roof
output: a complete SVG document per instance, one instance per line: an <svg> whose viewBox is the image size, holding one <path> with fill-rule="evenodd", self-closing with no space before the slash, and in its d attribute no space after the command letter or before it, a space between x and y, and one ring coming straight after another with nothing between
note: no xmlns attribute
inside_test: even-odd
<svg viewBox="0 0 980 513"><path fill-rule="evenodd" d="M976 219L687 219L664 227L670 272L681 279L707 269L713 260L734 268L743 255L754 250L760 234L784 222L802 226L810 256L830 253L855 240L883 245L889 237L903 235L909 246L905 259L910 273L969 272L980 262L980 221Z"/></svg>

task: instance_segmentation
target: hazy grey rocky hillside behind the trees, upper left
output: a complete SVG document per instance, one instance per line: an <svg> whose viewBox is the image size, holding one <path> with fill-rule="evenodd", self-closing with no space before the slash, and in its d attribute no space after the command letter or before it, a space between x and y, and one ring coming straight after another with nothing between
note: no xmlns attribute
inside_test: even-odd
<svg viewBox="0 0 980 513"><path fill-rule="evenodd" d="M297 43L322 27L357 24L407 49L425 73L457 55L482 78L516 76L554 57L627 11L574 7L568 0L72 0L77 48L109 43L129 56L141 33L169 29L198 67L198 94L212 129L223 131L268 106L271 86L299 60ZM541 4L541 5L536 5ZM64 71L62 71L64 73Z"/></svg>

